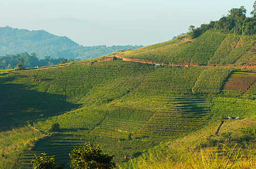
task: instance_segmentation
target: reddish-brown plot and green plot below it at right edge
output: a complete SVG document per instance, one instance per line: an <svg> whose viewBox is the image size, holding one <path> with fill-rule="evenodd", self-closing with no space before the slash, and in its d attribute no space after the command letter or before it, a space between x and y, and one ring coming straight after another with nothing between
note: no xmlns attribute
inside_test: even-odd
<svg viewBox="0 0 256 169"><path fill-rule="evenodd" d="M213 118L226 115L248 118L256 113L254 71L233 72L224 84L219 97L212 100Z"/></svg>

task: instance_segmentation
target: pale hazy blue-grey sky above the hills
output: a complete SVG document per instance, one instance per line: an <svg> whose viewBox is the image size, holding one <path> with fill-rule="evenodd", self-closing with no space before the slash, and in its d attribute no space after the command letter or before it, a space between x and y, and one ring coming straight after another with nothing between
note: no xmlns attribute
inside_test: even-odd
<svg viewBox="0 0 256 169"><path fill-rule="evenodd" d="M60 28L55 25L53 28L45 24L42 27L84 46L147 46L186 33L190 25L197 27L219 20L231 8L245 6L250 16L253 3L253 0L0 0L0 26L32 30L40 29L35 24L31 26L37 21L72 18L88 21L112 33L104 32L104 36L98 32L97 35L86 28L82 32L76 30L78 26Z"/></svg>

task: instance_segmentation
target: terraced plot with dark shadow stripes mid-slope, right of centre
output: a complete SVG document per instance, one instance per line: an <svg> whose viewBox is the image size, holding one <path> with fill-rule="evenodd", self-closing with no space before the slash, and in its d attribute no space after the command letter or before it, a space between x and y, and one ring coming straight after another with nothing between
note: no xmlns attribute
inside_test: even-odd
<svg viewBox="0 0 256 169"><path fill-rule="evenodd" d="M161 140L195 131L207 123L208 109L204 104L204 99L200 97L172 98L156 110L139 132Z"/></svg>

